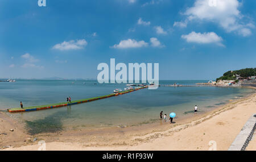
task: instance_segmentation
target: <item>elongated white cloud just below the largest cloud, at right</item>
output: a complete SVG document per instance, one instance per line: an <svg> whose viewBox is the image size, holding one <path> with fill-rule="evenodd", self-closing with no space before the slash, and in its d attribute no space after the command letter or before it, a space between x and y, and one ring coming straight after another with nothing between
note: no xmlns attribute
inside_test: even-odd
<svg viewBox="0 0 256 162"><path fill-rule="evenodd" d="M210 44L214 43L220 46L224 46L221 41L223 40L215 32L204 32L203 34L192 31L188 35L181 35L181 38L187 40L188 43Z"/></svg>

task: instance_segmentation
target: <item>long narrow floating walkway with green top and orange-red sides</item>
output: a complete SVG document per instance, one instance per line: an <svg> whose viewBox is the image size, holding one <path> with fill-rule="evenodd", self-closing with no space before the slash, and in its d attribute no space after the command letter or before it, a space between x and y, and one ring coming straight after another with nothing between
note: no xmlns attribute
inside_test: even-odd
<svg viewBox="0 0 256 162"><path fill-rule="evenodd" d="M7 109L7 111L9 113L20 113L20 112L26 112L26 111L53 109L53 108L57 108L57 107L76 105L76 104L79 104L79 103L85 103L85 102L96 101L98 99L109 98L109 97L113 97L113 96L116 96L116 95L119 95L119 94L126 94L126 93L130 93L130 92L134 92L135 90L144 89L144 88L147 88L147 87L148 86L144 86L144 87L141 87L141 88L135 88L133 90L126 90L126 91L123 91L123 92L120 92L120 93L112 93L112 94L108 94L108 95L102 95L100 97L80 99L80 100L76 100L76 101L72 101L72 102L68 102L68 103L67 102L61 102L61 103L55 103L55 104L51 104L51 105L24 107L23 109L21 109L21 108L12 108L12 109Z"/></svg>

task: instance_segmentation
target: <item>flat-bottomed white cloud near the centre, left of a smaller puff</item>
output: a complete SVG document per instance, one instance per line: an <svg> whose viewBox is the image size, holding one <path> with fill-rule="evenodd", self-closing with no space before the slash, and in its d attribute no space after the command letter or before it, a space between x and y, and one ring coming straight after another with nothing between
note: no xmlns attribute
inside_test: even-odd
<svg viewBox="0 0 256 162"><path fill-rule="evenodd" d="M134 39L127 39L127 40L121 40L119 44L115 44L110 48L139 48L139 47L146 47L148 43L146 43L144 40L137 41Z"/></svg>

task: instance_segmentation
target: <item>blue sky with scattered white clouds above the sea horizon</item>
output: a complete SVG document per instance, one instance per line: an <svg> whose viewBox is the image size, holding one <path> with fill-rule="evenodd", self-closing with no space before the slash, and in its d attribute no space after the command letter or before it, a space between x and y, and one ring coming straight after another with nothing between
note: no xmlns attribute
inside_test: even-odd
<svg viewBox="0 0 256 162"><path fill-rule="evenodd" d="M97 78L97 65L159 63L161 80L256 67L256 1L0 1L0 78ZM215 3L216 2L216 3Z"/></svg>

